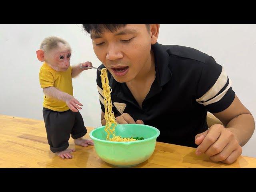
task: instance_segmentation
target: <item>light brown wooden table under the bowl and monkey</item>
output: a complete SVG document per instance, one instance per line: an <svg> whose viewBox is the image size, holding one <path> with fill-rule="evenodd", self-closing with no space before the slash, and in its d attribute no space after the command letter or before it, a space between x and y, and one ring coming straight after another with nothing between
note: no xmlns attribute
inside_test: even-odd
<svg viewBox="0 0 256 192"><path fill-rule="evenodd" d="M93 128L87 127L89 138ZM62 160L50 151L44 122L0 115L0 168L110 168L93 146L76 148L74 156ZM256 158L240 156L233 164L212 162L206 155L196 156L195 148L156 142L154 154L136 168L256 168Z"/></svg>

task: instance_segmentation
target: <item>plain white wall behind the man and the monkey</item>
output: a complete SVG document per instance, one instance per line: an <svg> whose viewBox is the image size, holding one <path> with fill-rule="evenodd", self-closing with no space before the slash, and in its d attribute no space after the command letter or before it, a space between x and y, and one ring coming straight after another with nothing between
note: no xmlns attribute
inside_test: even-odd
<svg viewBox="0 0 256 192"><path fill-rule="evenodd" d="M43 93L38 80L42 63L36 58L43 38L56 35L72 49L71 65L100 62L94 55L89 35L81 24L0 25L0 114L42 120ZM232 79L232 88L255 116L256 105L255 24L161 24L158 42L196 48L214 57ZM74 97L86 126L100 126L96 70L84 71L73 79ZM243 147L242 155L256 157L256 134Z"/></svg>

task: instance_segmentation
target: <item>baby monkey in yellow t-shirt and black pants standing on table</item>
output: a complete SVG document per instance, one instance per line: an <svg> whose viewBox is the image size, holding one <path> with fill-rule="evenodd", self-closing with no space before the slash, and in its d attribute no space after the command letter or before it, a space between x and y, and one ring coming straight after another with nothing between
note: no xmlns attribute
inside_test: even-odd
<svg viewBox="0 0 256 192"><path fill-rule="evenodd" d="M62 159L72 158L67 149L71 137L76 145L94 145L92 140L83 139L87 133L83 118L78 111L82 104L73 97L72 78L92 66L91 62L70 66L71 48L68 42L56 37L45 38L36 51L38 60L44 62L39 72L39 82L44 92L43 117L50 150Z"/></svg>

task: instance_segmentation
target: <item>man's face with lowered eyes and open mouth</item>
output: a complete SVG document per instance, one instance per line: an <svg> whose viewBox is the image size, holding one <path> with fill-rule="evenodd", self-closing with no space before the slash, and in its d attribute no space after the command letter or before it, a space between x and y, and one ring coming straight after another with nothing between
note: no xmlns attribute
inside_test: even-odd
<svg viewBox="0 0 256 192"><path fill-rule="evenodd" d="M145 24L128 24L116 32L91 33L98 59L118 82L133 80L151 62L151 34Z"/></svg>

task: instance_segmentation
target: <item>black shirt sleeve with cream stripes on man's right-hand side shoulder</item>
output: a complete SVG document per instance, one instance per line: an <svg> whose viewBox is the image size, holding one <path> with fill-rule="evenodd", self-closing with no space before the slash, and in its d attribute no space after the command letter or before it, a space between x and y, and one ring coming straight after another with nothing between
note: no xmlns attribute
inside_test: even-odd
<svg viewBox="0 0 256 192"><path fill-rule="evenodd" d="M235 98L231 85L224 68L209 56L198 82L196 101L211 113L222 112Z"/></svg>

